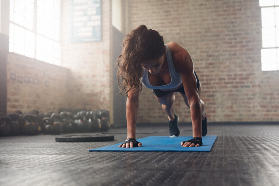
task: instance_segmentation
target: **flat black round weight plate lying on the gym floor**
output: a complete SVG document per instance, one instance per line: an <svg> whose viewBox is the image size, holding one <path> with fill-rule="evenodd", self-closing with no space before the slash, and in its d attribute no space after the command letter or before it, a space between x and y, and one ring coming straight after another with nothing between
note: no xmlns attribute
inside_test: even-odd
<svg viewBox="0 0 279 186"><path fill-rule="evenodd" d="M56 137L57 142L101 142L101 141L114 141L114 136L107 135L74 135L74 136L60 136Z"/></svg>

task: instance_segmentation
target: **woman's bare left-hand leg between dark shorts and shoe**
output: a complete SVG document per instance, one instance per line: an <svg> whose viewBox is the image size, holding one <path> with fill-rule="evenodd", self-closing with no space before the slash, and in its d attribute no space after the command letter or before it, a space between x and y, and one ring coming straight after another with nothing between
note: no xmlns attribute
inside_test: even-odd
<svg viewBox="0 0 279 186"><path fill-rule="evenodd" d="M158 102L162 104L162 108L167 113L169 120L174 120L174 93L171 92L162 97L157 97L156 95L154 96Z"/></svg>

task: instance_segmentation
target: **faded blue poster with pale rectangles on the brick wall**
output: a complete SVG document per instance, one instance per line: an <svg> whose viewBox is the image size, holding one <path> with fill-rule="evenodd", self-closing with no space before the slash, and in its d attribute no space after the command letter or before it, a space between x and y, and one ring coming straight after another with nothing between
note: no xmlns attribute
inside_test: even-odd
<svg viewBox="0 0 279 186"><path fill-rule="evenodd" d="M101 0L71 0L71 42L102 40Z"/></svg>

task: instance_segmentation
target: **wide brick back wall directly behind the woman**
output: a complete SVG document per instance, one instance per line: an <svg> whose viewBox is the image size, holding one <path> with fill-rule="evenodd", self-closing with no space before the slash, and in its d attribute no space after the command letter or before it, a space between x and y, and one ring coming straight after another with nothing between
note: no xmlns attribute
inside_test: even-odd
<svg viewBox="0 0 279 186"><path fill-rule="evenodd" d="M124 5L126 33L145 24L165 43L189 51L208 121L279 121L279 71L261 71L258 0L126 0ZM175 113L190 122L189 108L175 95ZM166 120L151 90L143 88L138 122Z"/></svg>

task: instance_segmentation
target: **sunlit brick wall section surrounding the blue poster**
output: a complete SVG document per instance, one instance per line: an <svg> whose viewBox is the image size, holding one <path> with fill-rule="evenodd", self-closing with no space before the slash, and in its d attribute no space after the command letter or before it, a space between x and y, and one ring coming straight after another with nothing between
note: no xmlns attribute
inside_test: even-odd
<svg viewBox="0 0 279 186"><path fill-rule="evenodd" d="M76 108L110 109L111 5L102 1L102 41L71 43L70 1L62 1L62 66L71 69Z"/></svg>

